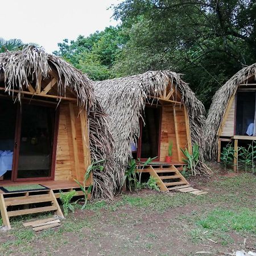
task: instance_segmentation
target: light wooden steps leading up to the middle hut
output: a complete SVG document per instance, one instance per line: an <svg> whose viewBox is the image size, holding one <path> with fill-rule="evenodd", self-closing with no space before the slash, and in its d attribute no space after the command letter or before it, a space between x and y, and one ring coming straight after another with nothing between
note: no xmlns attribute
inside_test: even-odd
<svg viewBox="0 0 256 256"><path fill-rule="evenodd" d="M159 166L149 165L143 169L143 172L149 172L151 176L155 177L156 184L158 184L160 191L172 191L178 188L190 187L188 181L178 170L178 168L180 169L182 166L176 167L172 164Z"/></svg>

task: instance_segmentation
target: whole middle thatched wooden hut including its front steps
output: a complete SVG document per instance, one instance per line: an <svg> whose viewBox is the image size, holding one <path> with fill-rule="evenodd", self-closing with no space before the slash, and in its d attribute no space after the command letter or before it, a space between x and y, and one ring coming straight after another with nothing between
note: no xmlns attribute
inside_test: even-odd
<svg viewBox="0 0 256 256"><path fill-rule="evenodd" d="M170 71L146 72L99 81L94 88L112 118L117 186L122 185L131 158L154 157L143 172L155 176L162 191L187 185L179 172L184 165L180 148L191 152L192 143L201 143L204 107L180 76ZM170 143L172 160L167 163Z"/></svg>

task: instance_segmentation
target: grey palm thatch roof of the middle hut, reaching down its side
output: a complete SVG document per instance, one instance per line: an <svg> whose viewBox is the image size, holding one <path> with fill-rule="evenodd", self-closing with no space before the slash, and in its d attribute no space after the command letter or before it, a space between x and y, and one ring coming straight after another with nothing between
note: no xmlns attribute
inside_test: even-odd
<svg viewBox="0 0 256 256"><path fill-rule="evenodd" d="M149 71L141 75L94 82L96 94L101 98L106 113L112 118L110 128L115 143L114 175L117 187L121 187L127 163L132 157L131 142L137 141L139 136L139 118L147 97L159 97L169 82L181 93L181 101L188 108L192 144L203 144L200 134L205 121L204 106L179 74L171 71Z"/></svg>

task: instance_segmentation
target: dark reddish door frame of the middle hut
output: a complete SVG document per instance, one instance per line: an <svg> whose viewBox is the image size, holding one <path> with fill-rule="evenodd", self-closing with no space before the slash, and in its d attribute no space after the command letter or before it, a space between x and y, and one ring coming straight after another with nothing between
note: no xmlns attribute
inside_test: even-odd
<svg viewBox="0 0 256 256"><path fill-rule="evenodd" d="M160 110L160 118L159 118L159 129L158 129L158 157L154 159L154 161L160 161L160 147L161 147L161 133L162 133L162 113L163 108L161 105L155 105L155 104L147 104L145 105L145 108L150 107ZM143 109L144 110L144 109ZM139 119L139 138L138 138L138 146L137 146L137 159L139 158L142 161L147 160L147 158L141 158L141 143L142 143L142 128L143 128L143 120L142 117ZM152 156L154 157L154 156Z"/></svg>

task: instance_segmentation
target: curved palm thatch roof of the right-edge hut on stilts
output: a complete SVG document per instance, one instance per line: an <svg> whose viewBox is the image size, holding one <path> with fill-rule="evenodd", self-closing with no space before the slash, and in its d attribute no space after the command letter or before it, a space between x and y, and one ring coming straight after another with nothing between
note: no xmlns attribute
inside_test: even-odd
<svg viewBox="0 0 256 256"><path fill-rule="evenodd" d="M245 67L232 76L213 96L210 105L206 125L205 137L205 159L216 160L217 157L217 133L226 112L230 97L236 92L237 86L246 80L246 77L256 73L256 63ZM246 82L246 81L245 81Z"/></svg>

